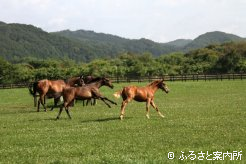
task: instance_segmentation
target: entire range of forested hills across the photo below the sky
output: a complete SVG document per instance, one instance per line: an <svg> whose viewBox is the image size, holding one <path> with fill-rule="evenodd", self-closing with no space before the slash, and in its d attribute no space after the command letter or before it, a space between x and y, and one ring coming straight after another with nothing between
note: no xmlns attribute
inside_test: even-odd
<svg viewBox="0 0 246 164"><path fill-rule="evenodd" d="M194 40L178 39L157 43L148 39L126 39L93 31L48 33L32 25L0 22L0 56L12 63L26 59L69 59L90 62L116 58L123 53L151 53L154 57L173 52L188 52L211 43L240 41L243 38L223 32L210 32Z"/></svg>

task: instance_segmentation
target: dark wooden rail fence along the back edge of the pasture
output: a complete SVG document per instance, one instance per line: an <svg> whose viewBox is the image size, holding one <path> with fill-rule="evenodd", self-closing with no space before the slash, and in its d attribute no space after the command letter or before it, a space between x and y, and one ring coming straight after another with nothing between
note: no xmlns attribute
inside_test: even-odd
<svg viewBox="0 0 246 164"><path fill-rule="evenodd" d="M210 81L210 80L245 80L246 74L191 74L191 75L163 75L163 76L145 76L145 77L110 77L115 83L130 83L130 82L151 82L153 80L164 78L166 81ZM0 84L0 89L11 88L27 88L30 83L18 84Z"/></svg>

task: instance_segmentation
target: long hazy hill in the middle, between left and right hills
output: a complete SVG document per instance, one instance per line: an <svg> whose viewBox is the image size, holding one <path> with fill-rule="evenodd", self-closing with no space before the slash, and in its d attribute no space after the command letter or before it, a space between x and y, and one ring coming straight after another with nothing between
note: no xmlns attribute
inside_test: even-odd
<svg viewBox="0 0 246 164"><path fill-rule="evenodd" d="M99 56L100 53L104 53L102 55L110 55L129 51L134 53L150 52L154 56L160 56L161 54L167 54L178 50L178 47L175 45L161 44L144 38L126 39L111 34L96 33L93 31L65 30L55 32L54 34L66 37L73 41L79 41L83 45L102 49L97 53Z"/></svg>

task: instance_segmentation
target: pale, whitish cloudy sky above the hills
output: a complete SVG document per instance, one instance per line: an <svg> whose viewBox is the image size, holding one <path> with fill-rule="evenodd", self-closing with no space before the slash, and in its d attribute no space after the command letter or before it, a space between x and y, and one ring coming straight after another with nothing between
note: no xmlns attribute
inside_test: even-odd
<svg viewBox="0 0 246 164"><path fill-rule="evenodd" d="M246 37L246 0L0 0L0 21L162 43L211 31Z"/></svg>

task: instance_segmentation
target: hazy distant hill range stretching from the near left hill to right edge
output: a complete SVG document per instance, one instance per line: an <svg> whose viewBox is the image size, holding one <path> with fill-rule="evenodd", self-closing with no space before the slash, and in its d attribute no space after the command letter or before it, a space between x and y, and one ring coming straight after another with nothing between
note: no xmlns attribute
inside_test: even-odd
<svg viewBox="0 0 246 164"><path fill-rule="evenodd" d="M167 43L157 43L144 38L139 40L130 40L115 35L85 30L65 30L55 32L55 34L78 41L84 45L93 46L97 49L103 49L105 55L119 54L130 51L135 53L150 52L154 56L160 56L162 54L168 54L176 51L187 52L192 49L206 47L210 44L222 44L225 42L244 40L239 36L218 31L202 34L194 40L177 39Z"/></svg>

